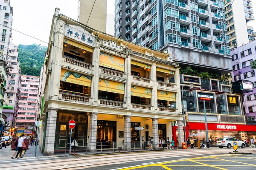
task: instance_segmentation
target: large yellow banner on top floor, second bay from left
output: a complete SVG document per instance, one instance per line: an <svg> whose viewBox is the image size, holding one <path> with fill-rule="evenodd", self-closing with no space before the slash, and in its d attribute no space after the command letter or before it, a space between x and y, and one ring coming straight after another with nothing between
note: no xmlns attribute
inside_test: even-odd
<svg viewBox="0 0 256 170"><path fill-rule="evenodd" d="M99 65L119 71L125 71L125 59L108 53L99 53Z"/></svg>

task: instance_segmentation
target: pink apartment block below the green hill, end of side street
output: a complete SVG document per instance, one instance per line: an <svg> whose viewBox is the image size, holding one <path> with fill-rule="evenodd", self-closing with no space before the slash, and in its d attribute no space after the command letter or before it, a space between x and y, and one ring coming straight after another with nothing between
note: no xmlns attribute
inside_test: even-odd
<svg viewBox="0 0 256 170"><path fill-rule="evenodd" d="M35 125L38 102L39 77L21 75L20 100L18 105L18 135L31 135Z"/></svg>

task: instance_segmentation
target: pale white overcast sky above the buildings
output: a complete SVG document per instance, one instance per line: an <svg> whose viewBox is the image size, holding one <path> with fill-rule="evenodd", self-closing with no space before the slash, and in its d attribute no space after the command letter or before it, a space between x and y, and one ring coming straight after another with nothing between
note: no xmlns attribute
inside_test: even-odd
<svg viewBox="0 0 256 170"><path fill-rule="evenodd" d="M15 44L29 45L36 43L47 46L55 8L60 8L61 14L74 20L77 19L78 0L26 0L26 2L10 0L10 2L14 8L12 42ZM107 13L114 14L114 2L115 0L108 0ZM254 15L256 16L256 0L251 3L253 3ZM254 31L256 31L256 20L250 21L248 25L253 26Z"/></svg>

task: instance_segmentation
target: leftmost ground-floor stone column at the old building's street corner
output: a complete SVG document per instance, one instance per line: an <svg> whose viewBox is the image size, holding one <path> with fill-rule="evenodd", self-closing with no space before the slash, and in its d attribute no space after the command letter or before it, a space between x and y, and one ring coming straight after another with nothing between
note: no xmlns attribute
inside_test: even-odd
<svg viewBox="0 0 256 170"><path fill-rule="evenodd" d="M54 155L55 132L58 108L47 108L47 127L44 155Z"/></svg>

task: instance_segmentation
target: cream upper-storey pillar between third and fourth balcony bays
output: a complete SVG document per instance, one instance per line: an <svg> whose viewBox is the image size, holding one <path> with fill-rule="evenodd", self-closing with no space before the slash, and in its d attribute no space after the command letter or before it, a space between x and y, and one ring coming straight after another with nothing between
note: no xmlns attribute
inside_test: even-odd
<svg viewBox="0 0 256 170"><path fill-rule="evenodd" d="M151 91L151 106L153 106L153 111L157 111L157 66L155 62L151 65L150 79L154 84Z"/></svg>

